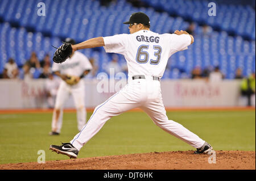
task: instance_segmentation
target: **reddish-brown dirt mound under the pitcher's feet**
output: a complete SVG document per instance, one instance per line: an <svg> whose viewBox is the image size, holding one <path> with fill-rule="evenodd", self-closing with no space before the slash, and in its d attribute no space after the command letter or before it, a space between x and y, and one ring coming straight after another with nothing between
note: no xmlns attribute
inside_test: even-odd
<svg viewBox="0 0 256 181"><path fill-rule="evenodd" d="M255 151L215 151L193 154L189 151L152 152L47 161L10 163L0 170L255 170Z"/></svg>

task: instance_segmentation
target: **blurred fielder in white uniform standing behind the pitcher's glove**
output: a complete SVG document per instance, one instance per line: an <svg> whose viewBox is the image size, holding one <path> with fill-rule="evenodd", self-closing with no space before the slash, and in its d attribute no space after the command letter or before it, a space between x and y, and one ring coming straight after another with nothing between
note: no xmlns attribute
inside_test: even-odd
<svg viewBox="0 0 256 181"><path fill-rule="evenodd" d="M67 38L66 43L75 44L75 40ZM77 111L77 128L81 131L86 123L85 85L82 78L92 69L88 58L80 53L73 52L68 61L63 64L53 62L52 71L62 81L57 91L55 108L52 116L52 131L49 135L59 135L63 123L63 106L70 94L73 96Z"/></svg>

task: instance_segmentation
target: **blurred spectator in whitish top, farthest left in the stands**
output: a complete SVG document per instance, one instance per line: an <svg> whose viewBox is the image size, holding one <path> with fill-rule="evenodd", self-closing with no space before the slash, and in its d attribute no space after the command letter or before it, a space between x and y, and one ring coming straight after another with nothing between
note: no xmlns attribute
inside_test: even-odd
<svg viewBox="0 0 256 181"><path fill-rule="evenodd" d="M17 78L19 74L19 69L17 64L14 62L13 58L5 64L5 69L3 70L3 78Z"/></svg>

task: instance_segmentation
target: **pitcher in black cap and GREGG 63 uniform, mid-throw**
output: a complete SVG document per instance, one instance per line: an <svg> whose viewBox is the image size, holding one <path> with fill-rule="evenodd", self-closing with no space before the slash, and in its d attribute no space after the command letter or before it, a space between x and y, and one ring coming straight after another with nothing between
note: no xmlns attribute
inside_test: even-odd
<svg viewBox="0 0 256 181"><path fill-rule="evenodd" d="M160 89L160 78L163 76L168 58L175 52L188 49L194 41L193 36L177 30L173 34L162 35L152 32L150 19L143 12L135 12L124 24L129 24L130 34L96 37L72 45L73 52L83 48L104 46L107 53L123 54L129 70L128 83L94 109L88 122L73 140L60 146L51 145L50 149L70 158L77 158L82 146L100 131L106 121L139 107L158 127L196 148L196 154L211 151L212 146L195 133L168 119Z"/></svg>

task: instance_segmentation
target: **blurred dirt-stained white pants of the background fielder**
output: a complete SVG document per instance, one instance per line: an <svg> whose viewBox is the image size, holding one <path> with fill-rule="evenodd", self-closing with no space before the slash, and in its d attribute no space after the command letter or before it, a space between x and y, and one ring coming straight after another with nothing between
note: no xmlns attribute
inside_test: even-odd
<svg viewBox="0 0 256 181"><path fill-rule="evenodd" d="M85 109L85 85L84 81L79 81L76 85L70 86L64 81L60 83L57 91L55 108L52 115L52 131L60 133L63 123L63 107L69 95L73 96L76 106L77 128L81 131L86 123Z"/></svg>

